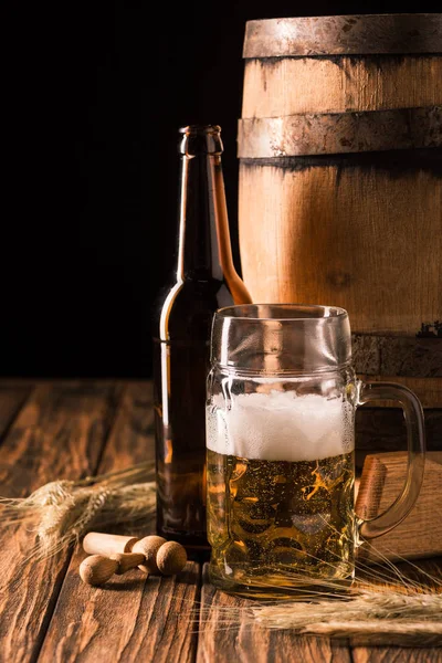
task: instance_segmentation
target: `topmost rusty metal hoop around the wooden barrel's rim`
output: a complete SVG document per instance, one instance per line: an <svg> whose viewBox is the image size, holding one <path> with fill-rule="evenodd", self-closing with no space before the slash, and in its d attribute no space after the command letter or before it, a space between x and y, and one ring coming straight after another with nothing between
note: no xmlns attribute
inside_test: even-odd
<svg viewBox="0 0 442 663"><path fill-rule="evenodd" d="M243 44L244 59L441 51L442 13L253 20Z"/></svg>

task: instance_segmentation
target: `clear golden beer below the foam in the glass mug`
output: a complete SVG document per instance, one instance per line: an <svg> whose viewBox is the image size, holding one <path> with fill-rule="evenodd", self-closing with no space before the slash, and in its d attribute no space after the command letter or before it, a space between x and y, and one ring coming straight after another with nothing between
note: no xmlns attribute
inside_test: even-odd
<svg viewBox="0 0 442 663"><path fill-rule="evenodd" d="M269 594L273 586L302 588L306 579L351 577L352 452L313 462L272 462L208 450L207 470L217 585L262 585L262 593Z"/></svg>

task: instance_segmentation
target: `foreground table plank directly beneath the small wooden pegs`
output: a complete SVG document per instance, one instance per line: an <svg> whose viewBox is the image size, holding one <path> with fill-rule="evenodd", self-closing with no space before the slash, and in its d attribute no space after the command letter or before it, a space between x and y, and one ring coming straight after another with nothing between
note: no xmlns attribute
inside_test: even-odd
<svg viewBox="0 0 442 663"><path fill-rule="evenodd" d="M39 661L194 660L196 562L176 577L146 578L136 569L93 588L78 577L84 557L78 549L72 559Z"/></svg>

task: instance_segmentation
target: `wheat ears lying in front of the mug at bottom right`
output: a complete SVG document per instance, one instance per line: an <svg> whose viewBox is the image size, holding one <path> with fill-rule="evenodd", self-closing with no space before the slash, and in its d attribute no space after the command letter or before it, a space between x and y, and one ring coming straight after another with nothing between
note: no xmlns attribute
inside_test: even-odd
<svg viewBox="0 0 442 663"><path fill-rule="evenodd" d="M222 620L228 628L260 624L271 630L290 630L297 635L350 640L352 644L433 646L442 645L442 583L412 561L408 575L370 543L380 568L356 560L357 579L350 590L334 580L311 580L287 573L287 586L296 580L293 600L250 602L248 607L225 606ZM313 557L313 556L312 556ZM423 575L425 583L410 577ZM283 578L283 576L282 576ZM274 589L270 582L263 588ZM429 585L433 589L430 590ZM281 589L281 586L278 586ZM303 591L305 588L305 591Z"/></svg>

